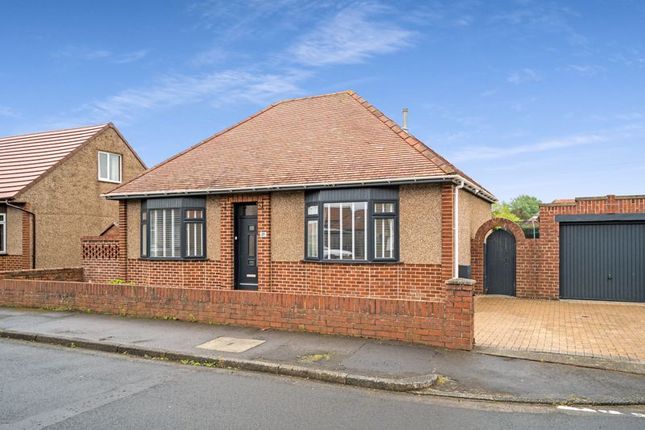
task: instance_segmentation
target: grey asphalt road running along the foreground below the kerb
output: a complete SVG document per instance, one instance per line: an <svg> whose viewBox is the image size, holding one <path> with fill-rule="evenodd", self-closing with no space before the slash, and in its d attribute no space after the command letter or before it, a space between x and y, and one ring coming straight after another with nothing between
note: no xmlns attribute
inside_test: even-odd
<svg viewBox="0 0 645 430"><path fill-rule="evenodd" d="M0 340L0 429L627 429L645 408L562 410L361 390Z"/></svg>

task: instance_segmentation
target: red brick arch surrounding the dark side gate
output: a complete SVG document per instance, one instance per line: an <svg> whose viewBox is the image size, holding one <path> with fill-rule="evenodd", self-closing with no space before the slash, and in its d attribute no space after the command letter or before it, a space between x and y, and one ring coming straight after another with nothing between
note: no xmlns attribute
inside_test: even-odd
<svg viewBox="0 0 645 430"><path fill-rule="evenodd" d="M515 292L518 297L525 296L527 293L526 269L527 256L530 244L524 237L524 232L519 225L505 218L493 218L486 221L475 233L475 238L470 243L471 269L472 276L477 283L475 284L475 293L484 293L484 241L488 233L494 229L501 228L513 235L515 238Z"/></svg>

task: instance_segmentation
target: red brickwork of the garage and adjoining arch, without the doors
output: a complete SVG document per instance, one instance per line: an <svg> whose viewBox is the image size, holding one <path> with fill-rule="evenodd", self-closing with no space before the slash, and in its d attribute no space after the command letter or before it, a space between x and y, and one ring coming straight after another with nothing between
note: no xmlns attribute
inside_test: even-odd
<svg viewBox="0 0 645 430"><path fill-rule="evenodd" d="M503 219L484 223L471 244L475 291L484 292L484 241L494 228L503 228L516 241L516 293L518 297L558 299L560 297L560 220L563 216L610 216L645 214L645 196L581 197L556 200L540 207L538 239L525 239L516 224ZM594 219L594 218L589 218ZM603 218L598 218L602 220Z"/></svg>

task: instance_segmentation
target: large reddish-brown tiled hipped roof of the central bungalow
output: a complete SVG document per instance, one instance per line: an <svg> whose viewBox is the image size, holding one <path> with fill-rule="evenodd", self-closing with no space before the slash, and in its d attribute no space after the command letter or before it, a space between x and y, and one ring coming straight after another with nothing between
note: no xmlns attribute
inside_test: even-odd
<svg viewBox="0 0 645 430"><path fill-rule="evenodd" d="M450 175L470 180L348 91L271 105L108 196L296 188Z"/></svg>

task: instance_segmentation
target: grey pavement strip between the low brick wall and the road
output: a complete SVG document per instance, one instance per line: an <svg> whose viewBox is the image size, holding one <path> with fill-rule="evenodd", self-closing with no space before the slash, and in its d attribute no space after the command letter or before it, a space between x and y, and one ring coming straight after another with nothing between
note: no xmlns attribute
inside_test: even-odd
<svg viewBox="0 0 645 430"><path fill-rule="evenodd" d="M345 375L343 382L374 380L434 382L415 391L443 396L541 403L645 403L645 376L551 363L495 357L397 342L262 331L178 321L120 318L70 312L0 309L0 331L59 339L95 349L139 351L141 355L182 354L195 361L315 379ZM218 338L264 341L243 352L198 348ZM235 346L235 345L233 345ZM198 360L199 359L199 360ZM185 360L190 362L189 359ZM242 362L247 366L231 363ZM253 366L256 366L255 368ZM281 369L310 370L314 376ZM353 378L353 379L352 379ZM329 378L330 380L333 378ZM432 385L432 386L429 386Z"/></svg>

